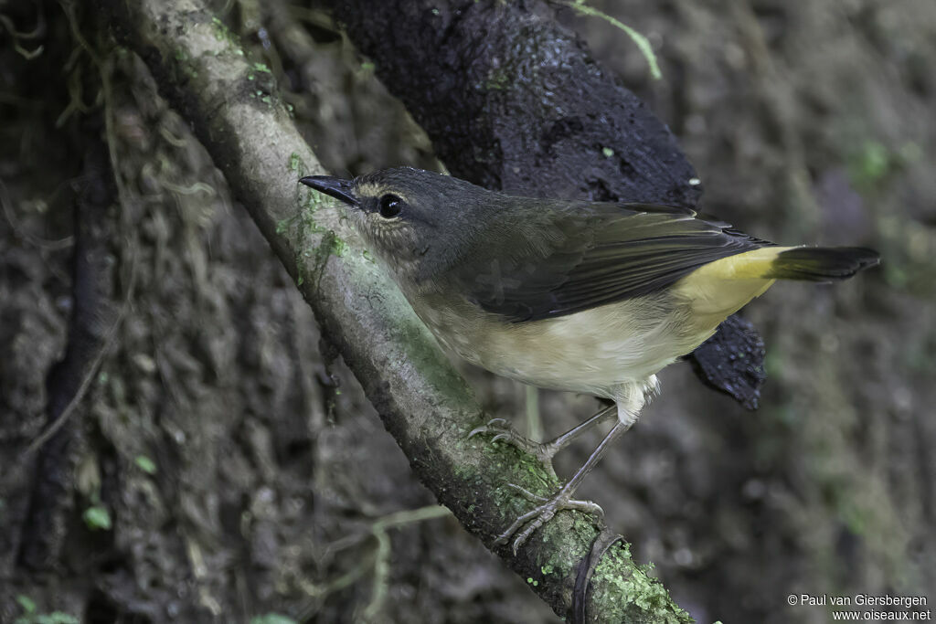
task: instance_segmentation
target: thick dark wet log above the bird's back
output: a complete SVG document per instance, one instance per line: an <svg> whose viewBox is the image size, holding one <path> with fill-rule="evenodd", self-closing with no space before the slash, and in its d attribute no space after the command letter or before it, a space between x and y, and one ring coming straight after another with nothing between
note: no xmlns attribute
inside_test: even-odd
<svg viewBox="0 0 936 624"><path fill-rule="evenodd" d="M544 2L326 4L452 175L536 196L698 201L676 138Z"/></svg>

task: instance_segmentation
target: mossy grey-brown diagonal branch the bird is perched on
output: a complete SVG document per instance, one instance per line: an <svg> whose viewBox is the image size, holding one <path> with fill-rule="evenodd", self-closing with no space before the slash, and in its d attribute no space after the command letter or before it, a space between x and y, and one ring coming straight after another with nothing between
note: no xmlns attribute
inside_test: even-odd
<svg viewBox="0 0 936 624"><path fill-rule="evenodd" d="M578 564L598 533L589 516L563 513L516 557L495 536L529 503L507 486L540 494L558 486L533 458L468 440L486 418L428 330L384 273L363 254L333 204L297 184L323 173L296 131L264 65L194 0L98 0L125 44L197 137L312 306L409 458L414 472L557 614L570 603ZM592 577L595 621L688 621L665 588L631 559L608 550Z"/></svg>

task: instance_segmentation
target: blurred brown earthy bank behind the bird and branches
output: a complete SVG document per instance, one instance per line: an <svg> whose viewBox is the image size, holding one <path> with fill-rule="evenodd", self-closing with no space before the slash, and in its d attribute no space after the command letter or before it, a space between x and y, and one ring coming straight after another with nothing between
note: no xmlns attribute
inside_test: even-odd
<svg viewBox="0 0 936 624"><path fill-rule="evenodd" d="M753 302L761 408L674 365L581 495L700 622L828 621L787 605L801 593L932 605L936 4L589 5L649 37L662 80L621 30L557 6L677 135L704 210L883 263ZM324 9L217 8L329 170L442 168ZM271 34L284 17L313 51L298 76ZM432 506L190 128L93 23L68 3L0 1L0 621L559 621ZM105 349L69 450L42 468L22 454L66 349L81 133L105 106L122 204L104 211ZM492 416L536 435L597 407L460 366ZM600 435L557 457L561 476ZM58 498L37 501L39 470L62 475Z"/></svg>

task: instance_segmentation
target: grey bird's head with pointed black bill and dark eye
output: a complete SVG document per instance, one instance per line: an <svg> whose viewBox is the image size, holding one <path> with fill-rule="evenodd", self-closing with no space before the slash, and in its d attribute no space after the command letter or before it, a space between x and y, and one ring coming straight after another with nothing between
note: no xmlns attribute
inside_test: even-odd
<svg viewBox="0 0 936 624"><path fill-rule="evenodd" d="M353 180L309 176L300 182L350 207L349 218L398 282L431 279L451 266L501 197L470 182L410 167Z"/></svg>

